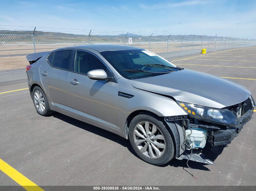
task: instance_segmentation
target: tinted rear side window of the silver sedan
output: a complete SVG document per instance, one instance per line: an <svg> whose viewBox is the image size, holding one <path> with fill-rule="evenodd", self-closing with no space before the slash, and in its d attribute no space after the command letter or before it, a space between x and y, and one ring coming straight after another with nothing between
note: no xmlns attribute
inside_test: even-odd
<svg viewBox="0 0 256 191"><path fill-rule="evenodd" d="M72 50L57 51L51 53L47 60L53 67L68 70L71 53Z"/></svg>

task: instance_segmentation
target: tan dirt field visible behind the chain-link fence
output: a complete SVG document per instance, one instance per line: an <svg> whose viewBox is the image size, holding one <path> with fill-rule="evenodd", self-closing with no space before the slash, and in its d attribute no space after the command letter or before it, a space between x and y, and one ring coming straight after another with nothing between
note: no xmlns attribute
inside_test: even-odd
<svg viewBox="0 0 256 191"><path fill-rule="evenodd" d="M76 44L43 44L36 45L36 52L52 51L65 46L74 46ZM126 44L128 45L128 44ZM197 42L192 45L192 42L182 43L181 42L165 42L165 43L134 43L132 46L137 46L143 49L150 49L154 53L165 53L165 58L171 58L175 56L182 56L186 54L186 51L192 50L193 53L200 53L201 43ZM149 48L150 46L150 48ZM181 49L182 46L182 49ZM227 44L216 44L216 50L223 49ZM232 46L231 44L229 46ZM214 42L211 41L209 44L202 43L202 48L208 49L208 51L214 50ZM182 51L181 51L182 50ZM181 54L181 52L183 52ZM0 71L26 68L28 64L25 56L34 53L34 46L31 45L14 45L14 46L0 46Z"/></svg>

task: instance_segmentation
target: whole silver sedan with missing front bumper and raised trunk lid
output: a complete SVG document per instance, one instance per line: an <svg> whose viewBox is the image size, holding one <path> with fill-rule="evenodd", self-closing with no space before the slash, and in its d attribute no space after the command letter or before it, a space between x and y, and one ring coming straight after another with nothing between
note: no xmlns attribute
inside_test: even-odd
<svg viewBox="0 0 256 191"><path fill-rule="evenodd" d="M231 143L255 105L241 85L137 47L72 46L27 59L38 114L56 111L129 139L154 165L173 158L214 164L201 149Z"/></svg>

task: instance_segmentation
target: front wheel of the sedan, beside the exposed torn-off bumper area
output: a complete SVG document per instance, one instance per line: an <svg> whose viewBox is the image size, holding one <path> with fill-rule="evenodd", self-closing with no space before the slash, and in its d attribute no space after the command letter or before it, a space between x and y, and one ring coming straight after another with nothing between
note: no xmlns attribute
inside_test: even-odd
<svg viewBox="0 0 256 191"><path fill-rule="evenodd" d="M142 160L163 165L174 158L175 147L171 130L164 121L151 113L135 116L129 125L129 140Z"/></svg>

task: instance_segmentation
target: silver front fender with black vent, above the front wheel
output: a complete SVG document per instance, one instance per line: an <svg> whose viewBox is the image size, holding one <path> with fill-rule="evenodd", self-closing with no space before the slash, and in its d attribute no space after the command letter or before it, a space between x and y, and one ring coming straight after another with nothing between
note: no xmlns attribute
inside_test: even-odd
<svg viewBox="0 0 256 191"><path fill-rule="evenodd" d="M155 113L158 116L187 115L185 111L169 97L134 88L125 78L119 78L122 86L118 91L133 95L131 98L118 96L118 130L125 133L128 116L138 110Z"/></svg>

